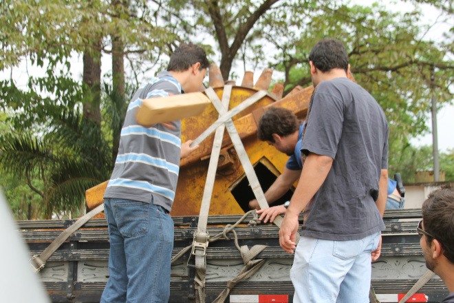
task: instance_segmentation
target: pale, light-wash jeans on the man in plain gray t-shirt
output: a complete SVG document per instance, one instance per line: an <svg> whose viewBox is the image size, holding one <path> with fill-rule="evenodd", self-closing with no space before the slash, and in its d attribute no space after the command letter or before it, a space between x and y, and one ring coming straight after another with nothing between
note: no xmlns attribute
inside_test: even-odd
<svg viewBox="0 0 454 303"><path fill-rule="evenodd" d="M294 303L369 303L371 252L380 233L361 240L332 241L302 236L290 278Z"/></svg>

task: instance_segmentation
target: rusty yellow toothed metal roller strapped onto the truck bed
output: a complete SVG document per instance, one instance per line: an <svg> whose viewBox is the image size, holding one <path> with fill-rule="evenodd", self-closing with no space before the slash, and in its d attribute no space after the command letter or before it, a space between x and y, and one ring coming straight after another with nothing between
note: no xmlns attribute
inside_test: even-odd
<svg viewBox="0 0 454 303"><path fill-rule="evenodd" d="M292 92L282 98L283 84L275 83L270 90L271 76L272 70L265 69L254 84L252 72L246 72L241 85L235 85L233 81L224 82L219 67L216 65L211 65L209 70L209 86L215 90L219 98L224 93L224 85L233 85L228 109L236 107L260 90L268 92L257 103L250 105L233 117L233 123L250 162L255 168L263 191L266 191L277 176L281 174L288 156L257 138L257 125L260 117L270 107L285 107L303 120L313 90L312 86L304 89L295 87ZM182 142L197 138L210 125L215 123L218 117L219 113L210 104L202 114L183 118ZM199 214L214 136L214 133L208 136L198 149L187 158L182 159L171 216L197 216ZM255 197L227 131L224 133L221 146L209 215L245 213L245 211L248 211L248 202ZM94 209L103 202L102 196L106 186L107 182L104 182L87 190L86 197L89 209ZM292 192L289 191L281 200L277 201L277 204L290 200L291 195Z"/></svg>

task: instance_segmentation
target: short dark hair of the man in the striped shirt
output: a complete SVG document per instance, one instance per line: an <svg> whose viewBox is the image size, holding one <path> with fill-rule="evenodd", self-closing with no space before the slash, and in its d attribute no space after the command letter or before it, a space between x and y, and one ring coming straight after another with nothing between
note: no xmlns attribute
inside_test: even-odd
<svg viewBox="0 0 454 303"><path fill-rule="evenodd" d="M167 66L169 72L184 72L193 64L199 62L199 70L208 68L210 62L206 59L206 54L203 48L193 43L181 43L180 46L173 51Z"/></svg>

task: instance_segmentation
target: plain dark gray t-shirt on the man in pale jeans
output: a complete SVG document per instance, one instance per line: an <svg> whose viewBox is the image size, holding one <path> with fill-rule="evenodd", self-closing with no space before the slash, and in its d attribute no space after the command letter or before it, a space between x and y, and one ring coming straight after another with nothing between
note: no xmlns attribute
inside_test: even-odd
<svg viewBox="0 0 454 303"><path fill-rule="evenodd" d="M385 113L363 87L347 78L318 85L301 152L334 161L305 208L302 236L359 240L385 229L375 201L388 134Z"/></svg>

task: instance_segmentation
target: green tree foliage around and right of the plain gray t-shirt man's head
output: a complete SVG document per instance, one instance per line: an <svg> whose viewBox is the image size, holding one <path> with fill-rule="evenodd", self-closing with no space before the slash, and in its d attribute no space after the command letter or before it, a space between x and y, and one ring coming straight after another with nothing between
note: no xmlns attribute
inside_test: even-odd
<svg viewBox="0 0 454 303"><path fill-rule="evenodd" d="M326 36L343 41L356 82L385 110L390 143L402 144L390 144L389 153L402 154L409 138L428 132L433 92L439 107L453 98L449 90L454 81L451 49L426 39L428 27L417 23L422 17L418 9L401 14L378 4L346 6L331 1L314 4L305 13L299 19L274 10L263 21L266 39L278 50L268 61L284 73L285 92L295 85L310 85L308 56L317 41ZM279 17L282 24L273 22Z"/></svg>

